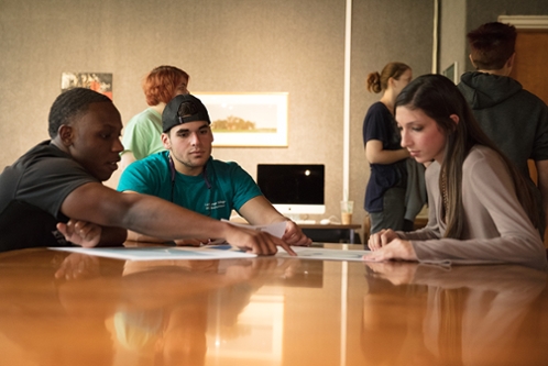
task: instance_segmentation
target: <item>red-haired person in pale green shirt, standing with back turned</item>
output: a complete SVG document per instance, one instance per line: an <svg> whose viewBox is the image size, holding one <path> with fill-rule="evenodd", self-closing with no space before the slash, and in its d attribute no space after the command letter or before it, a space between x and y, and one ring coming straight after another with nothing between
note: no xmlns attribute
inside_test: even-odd
<svg viewBox="0 0 548 366"><path fill-rule="evenodd" d="M146 75L143 91L150 106L134 115L124 127L121 168L164 149L162 112L165 104L178 95L188 93L189 76L174 66L158 66Z"/></svg>

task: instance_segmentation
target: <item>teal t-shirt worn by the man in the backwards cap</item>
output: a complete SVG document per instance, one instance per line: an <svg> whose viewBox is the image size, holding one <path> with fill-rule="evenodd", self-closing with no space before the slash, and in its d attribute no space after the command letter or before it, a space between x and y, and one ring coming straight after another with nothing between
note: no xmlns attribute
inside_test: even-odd
<svg viewBox="0 0 548 366"><path fill-rule="evenodd" d="M164 151L130 164L120 177L118 190L156 196L218 220L228 220L232 209L239 211L250 199L262 195L240 165L212 157L206 173L199 176L175 171L172 188L168 156L169 152Z"/></svg>

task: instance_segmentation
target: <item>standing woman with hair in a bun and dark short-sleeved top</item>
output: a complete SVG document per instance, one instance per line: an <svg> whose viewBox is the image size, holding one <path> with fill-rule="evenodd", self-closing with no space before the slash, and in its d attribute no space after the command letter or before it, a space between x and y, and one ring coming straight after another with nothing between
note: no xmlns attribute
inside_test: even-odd
<svg viewBox="0 0 548 366"><path fill-rule="evenodd" d="M363 121L365 157L371 168L364 208L371 220L371 233L386 228L409 230L408 224L404 225L409 153L399 146L394 102L412 77L410 67L402 63L390 63L381 74L368 76L368 90L383 93L381 100L369 108Z"/></svg>

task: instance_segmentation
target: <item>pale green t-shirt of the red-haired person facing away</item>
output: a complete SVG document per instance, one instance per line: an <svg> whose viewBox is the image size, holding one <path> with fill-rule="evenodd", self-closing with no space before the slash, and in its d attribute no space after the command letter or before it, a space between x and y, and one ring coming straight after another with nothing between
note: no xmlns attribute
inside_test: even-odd
<svg viewBox="0 0 548 366"><path fill-rule="evenodd" d="M123 129L123 152L131 152L135 159L140 160L165 151L161 135L162 115L152 108L147 108L134 115Z"/></svg>

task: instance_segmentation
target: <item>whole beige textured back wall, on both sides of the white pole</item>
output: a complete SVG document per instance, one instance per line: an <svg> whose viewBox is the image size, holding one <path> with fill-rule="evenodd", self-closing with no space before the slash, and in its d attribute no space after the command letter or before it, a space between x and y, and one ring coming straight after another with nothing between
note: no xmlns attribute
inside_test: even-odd
<svg viewBox="0 0 548 366"><path fill-rule="evenodd" d="M432 9L430 0L354 0L350 198L357 222L369 178L362 119L379 99L365 92L365 76L395 59L415 75L428 73ZM326 215L338 215L344 12L344 0L1 0L0 165L47 138L63 71L112 73L125 123L146 107L142 77L171 64L190 74L191 91L289 92L287 148L215 148L213 155L253 176L257 163L326 164Z"/></svg>

